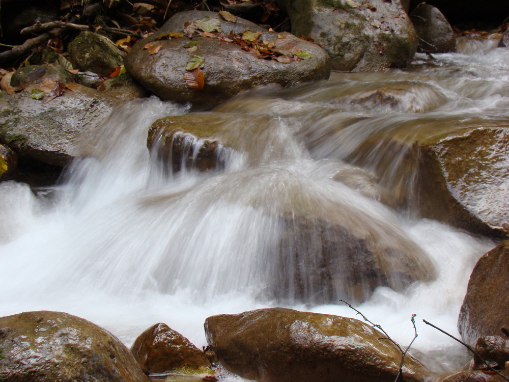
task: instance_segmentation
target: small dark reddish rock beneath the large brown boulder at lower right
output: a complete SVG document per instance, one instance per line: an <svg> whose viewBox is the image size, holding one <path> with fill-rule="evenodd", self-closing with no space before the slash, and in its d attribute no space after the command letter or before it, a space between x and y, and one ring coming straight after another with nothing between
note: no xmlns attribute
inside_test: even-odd
<svg viewBox="0 0 509 382"><path fill-rule="evenodd" d="M509 340L499 336L479 337L475 344L473 369L479 370L487 366L504 369L509 361Z"/></svg>

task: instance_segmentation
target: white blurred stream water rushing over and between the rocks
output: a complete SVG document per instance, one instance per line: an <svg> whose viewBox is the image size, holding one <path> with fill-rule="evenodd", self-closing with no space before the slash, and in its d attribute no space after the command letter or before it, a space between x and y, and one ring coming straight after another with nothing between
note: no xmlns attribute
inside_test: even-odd
<svg viewBox="0 0 509 382"><path fill-rule="evenodd" d="M407 143L509 118L509 50L495 43L462 41L463 53L417 56L406 71L332 73L243 94L210 114L237 150L205 173L168 174L146 148L151 123L187 107L156 98L119 105L107 133L82 139L96 143L94 158L72 163L58 186L0 183L0 315L65 311L127 345L165 322L199 347L213 314L285 306L353 317L336 302L348 287L341 280L327 298L306 280L321 248L313 228L281 241L281 214L316 214L384 245L403 240L416 264L436 269L428 282L379 286L356 307L403 345L417 314L413 353L437 373L455 371L464 349L420 319L457 334L470 271L494 243L418 216ZM292 259L304 241L307 256Z"/></svg>

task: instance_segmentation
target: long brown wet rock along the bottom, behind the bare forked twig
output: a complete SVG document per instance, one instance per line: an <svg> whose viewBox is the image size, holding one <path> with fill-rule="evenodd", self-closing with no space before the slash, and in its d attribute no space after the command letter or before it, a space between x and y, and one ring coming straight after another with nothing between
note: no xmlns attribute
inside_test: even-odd
<svg viewBox="0 0 509 382"><path fill-rule="evenodd" d="M207 341L228 370L260 382L394 381L401 352L359 320L271 308L205 321ZM426 369L405 358L406 381Z"/></svg>

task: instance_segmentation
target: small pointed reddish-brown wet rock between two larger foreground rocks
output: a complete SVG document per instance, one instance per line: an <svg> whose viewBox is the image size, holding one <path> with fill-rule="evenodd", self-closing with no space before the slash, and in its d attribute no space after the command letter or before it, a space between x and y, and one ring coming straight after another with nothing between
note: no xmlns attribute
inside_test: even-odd
<svg viewBox="0 0 509 382"><path fill-rule="evenodd" d="M145 374L167 373L183 366L210 366L203 351L164 323L140 334L131 352Z"/></svg>

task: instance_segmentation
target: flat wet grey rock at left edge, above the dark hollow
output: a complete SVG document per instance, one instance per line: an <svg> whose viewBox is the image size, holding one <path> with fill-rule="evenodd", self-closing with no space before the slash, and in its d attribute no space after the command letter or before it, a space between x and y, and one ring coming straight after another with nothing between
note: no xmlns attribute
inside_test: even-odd
<svg viewBox="0 0 509 382"><path fill-rule="evenodd" d="M65 166L81 152L76 137L97 129L113 100L81 87L44 103L25 93L0 96L0 143L20 157Z"/></svg>

